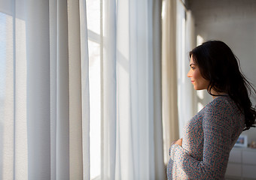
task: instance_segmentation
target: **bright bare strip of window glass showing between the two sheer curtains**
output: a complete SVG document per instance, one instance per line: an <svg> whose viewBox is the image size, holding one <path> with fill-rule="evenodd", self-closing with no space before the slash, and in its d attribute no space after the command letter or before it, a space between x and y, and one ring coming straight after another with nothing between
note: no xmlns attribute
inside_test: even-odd
<svg viewBox="0 0 256 180"><path fill-rule="evenodd" d="M87 0L90 81L90 179L101 172L100 0Z"/></svg>

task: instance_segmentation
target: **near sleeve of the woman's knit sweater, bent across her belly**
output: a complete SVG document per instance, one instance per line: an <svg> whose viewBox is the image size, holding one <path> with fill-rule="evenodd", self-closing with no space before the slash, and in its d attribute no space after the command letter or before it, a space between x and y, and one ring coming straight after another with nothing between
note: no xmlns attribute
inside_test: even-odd
<svg viewBox="0 0 256 180"><path fill-rule="evenodd" d="M230 108L224 102L206 108L203 116L203 160L197 160L180 145L172 145L173 161L191 179L223 179L231 144Z"/></svg>

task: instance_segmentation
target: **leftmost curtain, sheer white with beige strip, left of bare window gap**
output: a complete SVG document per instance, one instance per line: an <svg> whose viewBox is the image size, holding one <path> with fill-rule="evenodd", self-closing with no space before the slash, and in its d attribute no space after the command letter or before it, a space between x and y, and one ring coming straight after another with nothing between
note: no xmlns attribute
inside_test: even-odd
<svg viewBox="0 0 256 180"><path fill-rule="evenodd" d="M85 1L0 7L0 178L90 179Z"/></svg>

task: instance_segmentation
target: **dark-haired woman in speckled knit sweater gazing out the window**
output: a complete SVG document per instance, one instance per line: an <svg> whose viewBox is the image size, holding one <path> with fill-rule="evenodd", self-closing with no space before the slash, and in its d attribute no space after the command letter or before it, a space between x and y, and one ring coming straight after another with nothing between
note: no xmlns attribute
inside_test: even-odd
<svg viewBox="0 0 256 180"><path fill-rule="evenodd" d="M242 130L255 123L251 84L227 44L211 40L190 52L187 74L194 89L212 102L187 122L184 136L169 149L168 179L224 179L227 160Z"/></svg>

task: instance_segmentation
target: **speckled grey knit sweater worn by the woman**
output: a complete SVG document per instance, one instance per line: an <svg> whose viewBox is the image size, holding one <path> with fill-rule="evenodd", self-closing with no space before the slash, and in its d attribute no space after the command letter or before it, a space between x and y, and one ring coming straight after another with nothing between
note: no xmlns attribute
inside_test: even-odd
<svg viewBox="0 0 256 180"><path fill-rule="evenodd" d="M224 179L244 124L244 115L229 96L215 98L187 122L182 146L169 148L168 179Z"/></svg>

